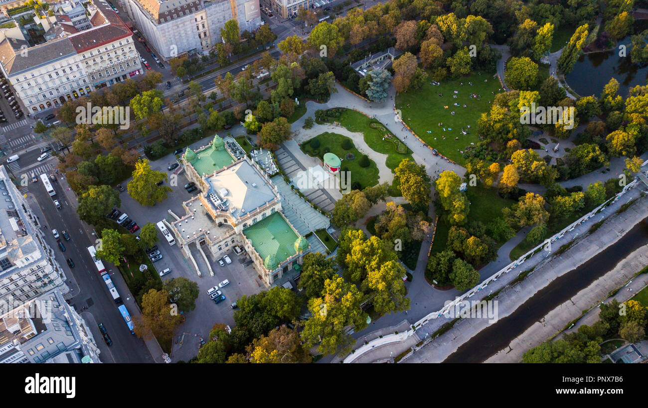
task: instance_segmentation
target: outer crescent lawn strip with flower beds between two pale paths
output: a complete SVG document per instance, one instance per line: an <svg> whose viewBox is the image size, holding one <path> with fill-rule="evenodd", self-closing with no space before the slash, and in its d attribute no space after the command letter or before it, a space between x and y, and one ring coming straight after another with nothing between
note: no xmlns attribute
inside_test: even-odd
<svg viewBox="0 0 648 408"><path fill-rule="evenodd" d="M342 111L338 121L350 132L361 132L364 134L364 140L371 149L378 153L387 155L387 161L385 164L391 169L391 171L398 167L400 162L405 158L414 161L411 156L412 151L406 145L403 144L402 146L406 149L407 153L399 153L396 150L396 144L394 141L398 140L397 137L391 133L385 125L378 122L378 120L367 118L364 114L356 112L353 109L345 109ZM374 123L374 127L371 127L370 123ZM385 134L390 134L393 139L383 139Z"/></svg>

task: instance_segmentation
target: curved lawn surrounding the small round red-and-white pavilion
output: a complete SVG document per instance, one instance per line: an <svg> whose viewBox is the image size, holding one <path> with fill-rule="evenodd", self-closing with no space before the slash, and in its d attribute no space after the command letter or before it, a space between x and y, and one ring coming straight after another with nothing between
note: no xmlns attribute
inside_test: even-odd
<svg viewBox="0 0 648 408"><path fill-rule="evenodd" d="M310 147L310 141L314 139L319 140L319 147L317 149ZM360 184L359 189L373 187L378 184L378 167L376 163L369 158L369 167L361 167L360 157L362 153L353 145L353 140L351 140L351 149L343 149L342 142L345 139L351 140L351 138L347 138L347 136L342 136L338 133L324 132L308 140L309 143L302 143L301 150L309 156L318 157L320 160L323 160L325 149L329 149L330 153L334 153L343 159L342 168L346 167L347 171L351 171L352 188L356 182ZM353 160L347 160L347 153L352 153L355 158Z"/></svg>

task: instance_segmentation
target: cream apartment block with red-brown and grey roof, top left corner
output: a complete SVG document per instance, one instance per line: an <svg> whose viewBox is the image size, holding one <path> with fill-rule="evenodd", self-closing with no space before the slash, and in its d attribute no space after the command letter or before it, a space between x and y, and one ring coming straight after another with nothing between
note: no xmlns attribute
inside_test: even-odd
<svg viewBox="0 0 648 408"><path fill-rule="evenodd" d="M133 33L108 3L81 5L89 23L75 12L79 4L66 4L52 6L54 16L34 17L44 43L33 45L38 38L26 38L17 20L0 28L0 69L30 113L143 73Z"/></svg>

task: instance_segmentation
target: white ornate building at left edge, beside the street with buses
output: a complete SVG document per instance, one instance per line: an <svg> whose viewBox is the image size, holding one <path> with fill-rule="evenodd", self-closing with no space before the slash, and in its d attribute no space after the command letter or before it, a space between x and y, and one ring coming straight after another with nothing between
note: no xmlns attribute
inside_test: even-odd
<svg viewBox="0 0 648 408"><path fill-rule="evenodd" d="M0 314L54 288L67 294L65 272L45 242L29 204L0 166ZM9 306L8 306L9 305ZM3 310L3 308L5 310Z"/></svg>

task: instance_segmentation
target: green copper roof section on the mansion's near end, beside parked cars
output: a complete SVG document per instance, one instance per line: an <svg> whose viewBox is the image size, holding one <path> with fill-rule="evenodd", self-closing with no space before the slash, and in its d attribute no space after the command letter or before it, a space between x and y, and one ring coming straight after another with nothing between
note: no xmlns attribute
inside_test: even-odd
<svg viewBox="0 0 648 408"><path fill-rule="evenodd" d="M272 213L259 222L255 222L245 228L243 233L252 243L255 251L259 253L259 257L264 259L264 266L268 270L273 270L279 263L297 253L295 244L299 235L279 212ZM306 243L308 245L308 242ZM275 262L270 262L272 258L268 260L269 255L274 257Z"/></svg>

